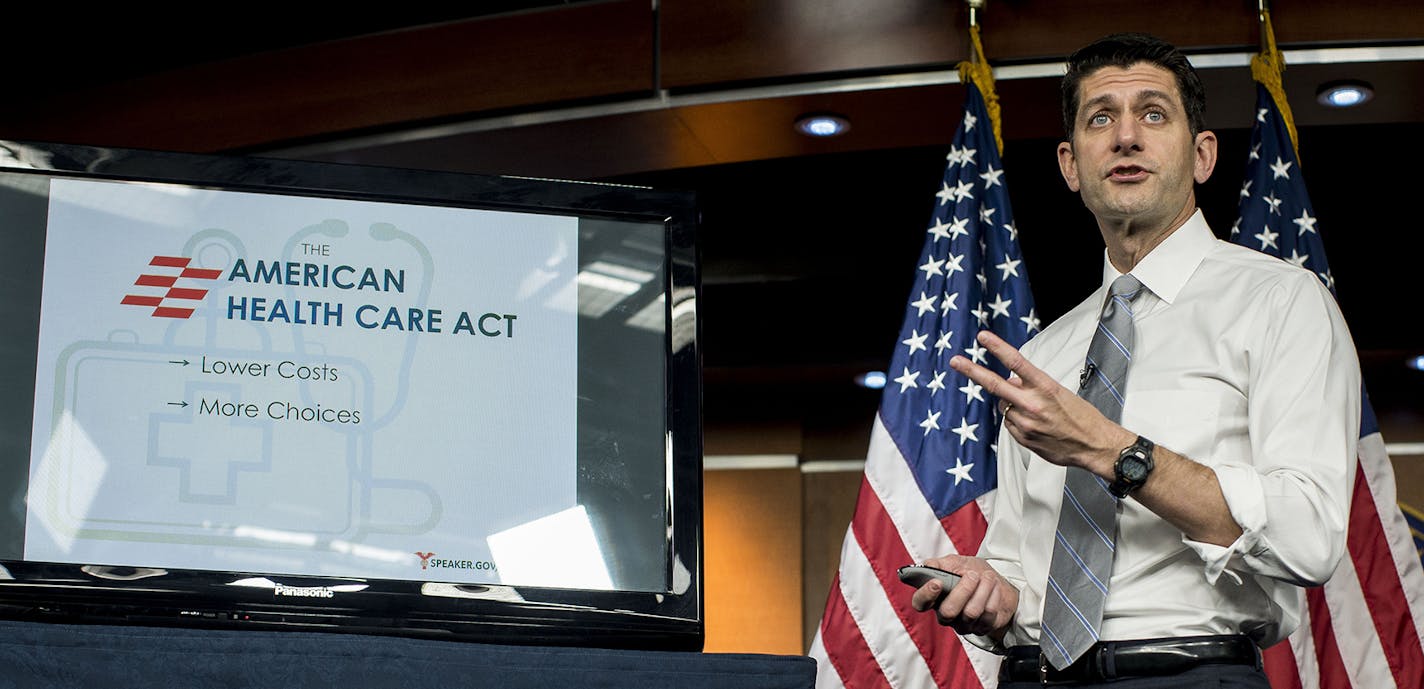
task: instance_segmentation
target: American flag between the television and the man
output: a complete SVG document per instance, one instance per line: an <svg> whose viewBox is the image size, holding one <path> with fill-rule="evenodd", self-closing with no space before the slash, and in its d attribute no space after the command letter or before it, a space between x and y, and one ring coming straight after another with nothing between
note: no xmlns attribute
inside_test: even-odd
<svg viewBox="0 0 1424 689"><path fill-rule="evenodd" d="M994 397L950 369L975 343L1022 346L1040 329L988 110L967 84L964 118L914 272L840 569L810 655L817 686L994 686L998 656L910 606L901 565L978 551L997 484Z"/></svg>

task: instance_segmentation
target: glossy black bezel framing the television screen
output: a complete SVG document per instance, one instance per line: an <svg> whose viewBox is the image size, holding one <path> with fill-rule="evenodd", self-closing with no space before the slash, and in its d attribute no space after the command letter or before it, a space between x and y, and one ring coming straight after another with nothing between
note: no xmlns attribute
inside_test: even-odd
<svg viewBox="0 0 1424 689"><path fill-rule="evenodd" d="M701 651L702 421L696 298L698 209L691 192L278 158L0 140L0 171L158 182L397 204L656 222L665 228L665 470L668 589L588 591L279 575L316 596L232 585L269 572L0 561L0 618L161 626L302 629L496 643ZM38 320L4 309L13 317ZM674 310L676 309L676 312ZM676 313L678 327L674 329ZM37 326L36 326L37 330ZM33 386L28 390L33 394ZM30 438L0 438L28 461ZM23 515L23 505L20 505ZM359 592L326 598L333 585ZM349 589L352 587L343 587Z"/></svg>

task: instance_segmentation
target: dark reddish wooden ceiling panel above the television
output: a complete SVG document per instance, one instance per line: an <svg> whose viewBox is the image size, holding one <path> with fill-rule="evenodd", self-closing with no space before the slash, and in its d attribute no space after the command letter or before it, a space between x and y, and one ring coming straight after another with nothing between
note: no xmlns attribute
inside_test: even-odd
<svg viewBox="0 0 1424 689"><path fill-rule="evenodd" d="M646 0L316 43L0 108L0 134L224 151L480 111L651 94Z"/></svg>

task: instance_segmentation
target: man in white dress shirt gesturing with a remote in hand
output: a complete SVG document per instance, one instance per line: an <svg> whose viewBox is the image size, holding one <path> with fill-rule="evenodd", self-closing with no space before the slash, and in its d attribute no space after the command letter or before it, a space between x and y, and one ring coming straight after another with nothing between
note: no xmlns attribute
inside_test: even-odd
<svg viewBox="0 0 1424 689"><path fill-rule="evenodd" d="M1324 582L1344 552L1354 344L1310 272L1208 228L1195 184L1212 174L1216 135L1203 110L1195 70L1153 37L1116 34L1075 53L1058 164L1106 245L1102 288L1022 353L981 333L1008 380L951 362L1001 400L1000 484L978 557L927 562L960 584L948 594L927 584L913 604L1007 653L1002 688L1266 688L1257 648L1294 629L1297 587ZM1112 421L1075 390L1121 275L1145 290ZM1038 643L1065 467L1126 497L1101 641L1054 669Z"/></svg>

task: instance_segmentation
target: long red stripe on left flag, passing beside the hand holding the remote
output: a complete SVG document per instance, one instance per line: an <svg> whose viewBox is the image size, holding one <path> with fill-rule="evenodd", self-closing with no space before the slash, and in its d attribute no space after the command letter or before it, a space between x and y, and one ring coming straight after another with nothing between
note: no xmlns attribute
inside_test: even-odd
<svg viewBox="0 0 1424 689"><path fill-rule="evenodd" d="M856 541L866 548L866 559L886 589L896 615L930 666L934 683L954 688L981 686L974 665L964 653L964 646L954 638L954 631L940 626L933 615L917 612L910 606L910 588L891 569L899 565L889 565L889 562L911 564L910 552L904 548L900 531L896 530L869 480L860 484L856 518L850 528L856 532Z"/></svg>

